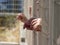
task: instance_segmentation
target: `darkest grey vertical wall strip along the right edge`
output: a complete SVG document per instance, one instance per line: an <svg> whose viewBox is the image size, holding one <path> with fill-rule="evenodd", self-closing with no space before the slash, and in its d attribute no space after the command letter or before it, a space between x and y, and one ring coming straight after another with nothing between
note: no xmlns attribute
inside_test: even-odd
<svg viewBox="0 0 60 45"><path fill-rule="evenodd" d="M54 2L54 45L57 45L56 41L60 35L60 5L57 1Z"/></svg>

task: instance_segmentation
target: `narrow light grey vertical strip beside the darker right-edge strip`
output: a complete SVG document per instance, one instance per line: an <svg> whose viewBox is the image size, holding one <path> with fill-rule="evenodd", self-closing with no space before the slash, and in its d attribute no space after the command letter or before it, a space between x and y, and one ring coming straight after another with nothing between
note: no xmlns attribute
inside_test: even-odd
<svg viewBox="0 0 60 45"><path fill-rule="evenodd" d="M49 0L49 44L53 45L53 30L54 30L54 0Z"/></svg>

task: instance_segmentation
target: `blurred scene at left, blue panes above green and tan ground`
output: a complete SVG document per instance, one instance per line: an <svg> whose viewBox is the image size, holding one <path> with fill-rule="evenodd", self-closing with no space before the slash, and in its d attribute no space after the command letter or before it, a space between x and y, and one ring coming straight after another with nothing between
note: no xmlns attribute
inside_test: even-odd
<svg viewBox="0 0 60 45"><path fill-rule="evenodd" d="M16 15L21 12L23 12L23 0L0 0L0 41L8 42L9 40L9 42L19 43L20 32L17 28L19 28L20 25L19 21L16 20ZM2 38L1 35L6 38ZM15 39L9 38L11 36L15 37Z"/></svg>

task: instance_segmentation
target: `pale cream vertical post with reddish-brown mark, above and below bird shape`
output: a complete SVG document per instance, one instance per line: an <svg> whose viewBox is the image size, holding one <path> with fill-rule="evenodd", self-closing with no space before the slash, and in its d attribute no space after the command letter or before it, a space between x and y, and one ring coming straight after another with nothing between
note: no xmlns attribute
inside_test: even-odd
<svg viewBox="0 0 60 45"><path fill-rule="evenodd" d="M31 15L29 8L31 8ZM24 0L24 14L28 19L33 16L33 0ZM27 45L33 45L33 38L33 31L26 30Z"/></svg>

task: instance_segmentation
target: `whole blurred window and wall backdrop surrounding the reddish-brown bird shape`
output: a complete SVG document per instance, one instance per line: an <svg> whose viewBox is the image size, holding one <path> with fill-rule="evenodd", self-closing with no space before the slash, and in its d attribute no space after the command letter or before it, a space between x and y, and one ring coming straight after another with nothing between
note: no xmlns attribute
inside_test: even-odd
<svg viewBox="0 0 60 45"><path fill-rule="evenodd" d="M42 18L42 32L23 29L18 13ZM1 45L60 45L60 0L0 0Z"/></svg>

